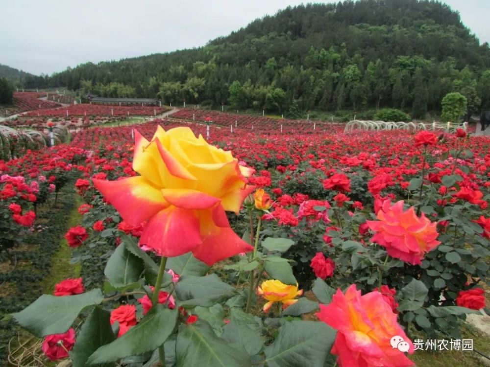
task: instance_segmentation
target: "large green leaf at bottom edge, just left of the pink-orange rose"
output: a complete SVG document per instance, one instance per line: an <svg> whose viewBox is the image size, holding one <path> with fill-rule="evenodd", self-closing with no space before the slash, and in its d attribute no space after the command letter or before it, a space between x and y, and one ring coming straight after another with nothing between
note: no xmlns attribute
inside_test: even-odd
<svg viewBox="0 0 490 367"><path fill-rule="evenodd" d="M265 348L265 362L269 367L323 367L336 335L324 322L286 322Z"/></svg>

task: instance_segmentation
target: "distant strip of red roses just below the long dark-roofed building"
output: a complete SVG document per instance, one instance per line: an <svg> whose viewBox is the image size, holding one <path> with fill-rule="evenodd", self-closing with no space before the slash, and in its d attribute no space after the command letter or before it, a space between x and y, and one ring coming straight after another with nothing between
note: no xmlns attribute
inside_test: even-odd
<svg viewBox="0 0 490 367"><path fill-rule="evenodd" d="M168 111L155 106L111 106L96 104L76 104L68 107L40 109L27 112L27 117L65 117L65 116L153 116Z"/></svg>

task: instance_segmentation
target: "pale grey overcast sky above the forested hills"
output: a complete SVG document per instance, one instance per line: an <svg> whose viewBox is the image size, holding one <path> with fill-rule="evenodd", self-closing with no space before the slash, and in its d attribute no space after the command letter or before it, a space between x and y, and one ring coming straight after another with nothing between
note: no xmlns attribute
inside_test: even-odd
<svg viewBox="0 0 490 367"><path fill-rule="evenodd" d="M0 0L0 64L51 74L198 47L299 0ZM325 1L332 2L332 1ZM444 0L490 42L490 0Z"/></svg>

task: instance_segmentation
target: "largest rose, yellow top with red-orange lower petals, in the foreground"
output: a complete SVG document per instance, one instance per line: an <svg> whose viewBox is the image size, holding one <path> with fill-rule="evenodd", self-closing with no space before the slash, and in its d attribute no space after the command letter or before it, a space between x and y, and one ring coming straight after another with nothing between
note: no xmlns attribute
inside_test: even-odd
<svg viewBox="0 0 490 367"><path fill-rule="evenodd" d="M133 169L141 176L93 180L97 189L131 226L147 221L140 238L160 256L192 251L212 265L253 250L230 228L225 210L238 213L253 191L240 166L188 127L158 127L151 141L135 130Z"/></svg>

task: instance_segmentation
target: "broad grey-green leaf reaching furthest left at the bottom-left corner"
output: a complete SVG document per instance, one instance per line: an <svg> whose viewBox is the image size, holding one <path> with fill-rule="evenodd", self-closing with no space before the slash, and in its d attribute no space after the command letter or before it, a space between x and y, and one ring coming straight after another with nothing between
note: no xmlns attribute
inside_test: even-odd
<svg viewBox="0 0 490 367"><path fill-rule="evenodd" d="M61 334L72 326L83 309L100 304L103 298L98 288L75 296L42 295L21 312L13 314L13 317L38 338Z"/></svg>

